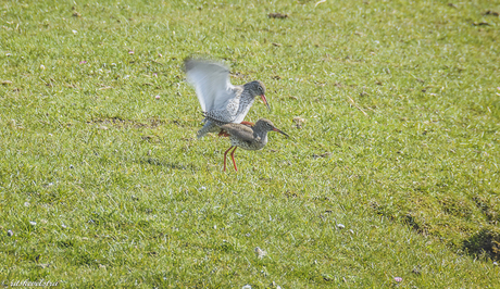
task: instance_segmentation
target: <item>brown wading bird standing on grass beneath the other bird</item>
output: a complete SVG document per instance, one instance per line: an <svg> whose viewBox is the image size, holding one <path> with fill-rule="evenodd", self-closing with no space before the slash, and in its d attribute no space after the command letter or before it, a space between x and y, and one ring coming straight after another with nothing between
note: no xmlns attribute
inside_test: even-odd
<svg viewBox="0 0 500 289"><path fill-rule="evenodd" d="M235 171L238 172L235 161L235 151L238 147L249 151L261 150L267 143L268 131L277 131L287 138L289 137L287 134L276 128L276 126L266 118L260 118L253 126L249 126L245 124L224 123L209 116L208 114L204 114L204 116L229 136L230 148L224 152L224 172L226 172L226 159L230 149L235 148L230 152L230 158L233 160L233 164L235 165Z"/></svg>

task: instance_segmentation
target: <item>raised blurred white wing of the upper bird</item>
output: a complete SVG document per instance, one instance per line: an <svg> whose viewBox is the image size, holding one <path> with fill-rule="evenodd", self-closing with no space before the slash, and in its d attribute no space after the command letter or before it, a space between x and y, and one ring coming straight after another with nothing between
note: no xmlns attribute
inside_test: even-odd
<svg viewBox="0 0 500 289"><path fill-rule="evenodd" d="M235 87L229 81L229 68L224 64L186 59L184 66L187 80L195 87L203 111L225 110L225 103L236 97Z"/></svg>

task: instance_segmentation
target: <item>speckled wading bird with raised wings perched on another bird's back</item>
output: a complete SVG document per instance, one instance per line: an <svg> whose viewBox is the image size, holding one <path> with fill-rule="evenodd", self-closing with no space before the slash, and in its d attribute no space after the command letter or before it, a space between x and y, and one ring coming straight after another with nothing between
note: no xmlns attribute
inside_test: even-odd
<svg viewBox="0 0 500 289"><path fill-rule="evenodd" d="M229 68L221 62L207 59L187 58L184 60L184 67L186 79L195 87L201 110L207 116L224 123L239 124L243 122L257 97L261 97L271 111L262 81L253 80L234 86L229 80ZM205 117L203 122L205 124L197 133L198 139L208 133L220 130L218 126L209 118Z"/></svg>

